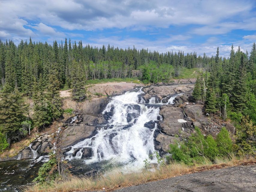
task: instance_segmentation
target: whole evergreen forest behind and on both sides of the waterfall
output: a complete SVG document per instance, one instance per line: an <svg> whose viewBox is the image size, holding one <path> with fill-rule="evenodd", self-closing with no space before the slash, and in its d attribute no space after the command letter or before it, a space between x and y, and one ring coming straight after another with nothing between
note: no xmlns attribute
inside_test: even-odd
<svg viewBox="0 0 256 192"><path fill-rule="evenodd" d="M249 52L231 46L230 56L168 51L160 53L135 47L92 47L82 41L47 42L0 40L0 146L39 130L62 116L59 90L73 89L77 102L86 99L86 81L139 78L144 83L169 82L184 68L199 68L193 98L206 105L210 116L218 114L238 125L256 124L256 46ZM29 116L27 100L33 102ZM239 126L238 126L239 127ZM240 126L241 127L241 126ZM255 128L255 126L254 126ZM242 130L242 128L241 128ZM241 131L240 130L240 131ZM239 130L238 130L239 131ZM255 143L254 138L249 140ZM242 142L242 140L241 140ZM241 143L241 145L244 145Z"/></svg>

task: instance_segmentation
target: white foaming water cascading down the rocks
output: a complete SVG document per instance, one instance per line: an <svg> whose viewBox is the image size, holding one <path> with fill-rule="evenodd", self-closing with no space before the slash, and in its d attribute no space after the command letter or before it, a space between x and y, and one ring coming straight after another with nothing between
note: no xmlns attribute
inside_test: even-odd
<svg viewBox="0 0 256 192"><path fill-rule="evenodd" d="M113 112L107 129L101 128L94 137L72 146L66 158L80 159L83 149L91 148L93 155L92 158L85 160L86 164L110 161L113 164L122 164L125 169L129 170L143 167L143 161L149 159L149 155L155 151L153 135L157 127L155 123L155 128L149 129L144 124L157 121L158 116L160 119L162 117L159 115L159 106L145 104L143 99L139 102L138 95L141 93L144 93L142 88L137 88L123 95L112 97L102 112L103 114ZM155 104L155 101L155 97L152 97L149 102ZM171 104L173 100L169 101ZM77 149L79 152L73 157L72 153ZM149 162L153 163L156 160L149 159Z"/></svg>

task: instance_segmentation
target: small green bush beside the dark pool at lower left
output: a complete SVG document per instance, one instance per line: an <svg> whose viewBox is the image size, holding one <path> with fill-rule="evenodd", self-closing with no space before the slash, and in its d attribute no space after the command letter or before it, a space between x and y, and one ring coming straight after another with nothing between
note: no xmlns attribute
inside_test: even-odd
<svg viewBox="0 0 256 192"><path fill-rule="evenodd" d="M54 154L50 154L50 160L39 168L38 177L36 177L33 182L40 184L44 182L50 183L57 177L57 160Z"/></svg>

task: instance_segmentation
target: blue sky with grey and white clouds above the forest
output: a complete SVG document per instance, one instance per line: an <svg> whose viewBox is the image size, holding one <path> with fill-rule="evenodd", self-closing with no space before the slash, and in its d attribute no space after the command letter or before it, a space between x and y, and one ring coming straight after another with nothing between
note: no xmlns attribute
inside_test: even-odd
<svg viewBox="0 0 256 192"><path fill-rule="evenodd" d="M256 0L0 0L0 39L228 57L256 41Z"/></svg>

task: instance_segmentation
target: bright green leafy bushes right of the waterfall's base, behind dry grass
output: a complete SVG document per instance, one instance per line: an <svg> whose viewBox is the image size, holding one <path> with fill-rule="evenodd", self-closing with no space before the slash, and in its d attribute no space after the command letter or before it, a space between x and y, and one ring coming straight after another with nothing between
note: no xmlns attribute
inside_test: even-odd
<svg viewBox="0 0 256 192"><path fill-rule="evenodd" d="M206 162L207 159L215 161L219 156L229 157L232 152L232 141L225 128L222 128L215 140L211 135L205 137L196 127L195 133L188 138L187 142L170 144L168 152L174 161L188 165L200 164Z"/></svg>

